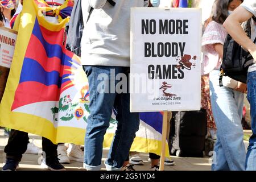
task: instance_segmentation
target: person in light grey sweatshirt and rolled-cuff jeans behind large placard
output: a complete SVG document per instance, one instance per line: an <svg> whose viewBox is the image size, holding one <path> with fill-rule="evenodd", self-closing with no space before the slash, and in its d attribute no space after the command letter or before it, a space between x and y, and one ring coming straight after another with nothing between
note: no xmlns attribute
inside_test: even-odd
<svg viewBox="0 0 256 182"><path fill-rule="evenodd" d="M107 170L121 170L139 129L139 114L130 113L130 94L117 92L115 77L121 74L125 75L124 79L129 78L130 9L148 6L148 1L82 1L83 15L88 14L88 6L93 11L88 22L84 18L81 42L81 61L88 77L90 94L84 166L87 170L101 169L104 134L114 107L118 126L105 166Z"/></svg>

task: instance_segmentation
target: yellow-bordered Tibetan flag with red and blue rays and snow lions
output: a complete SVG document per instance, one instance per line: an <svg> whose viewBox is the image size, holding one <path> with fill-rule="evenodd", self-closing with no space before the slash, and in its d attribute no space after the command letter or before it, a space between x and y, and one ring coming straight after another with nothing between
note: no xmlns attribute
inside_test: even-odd
<svg viewBox="0 0 256 182"><path fill-rule="evenodd" d="M89 115L88 80L80 58L65 49L65 25L47 22L38 0L24 1L18 16L13 63L0 105L0 126L50 139L84 144ZM160 155L162 113L141 113L131 151ZM117 128L113 111L105 135L109 148ZM168 146L166 147L168 156Z"/></svg>

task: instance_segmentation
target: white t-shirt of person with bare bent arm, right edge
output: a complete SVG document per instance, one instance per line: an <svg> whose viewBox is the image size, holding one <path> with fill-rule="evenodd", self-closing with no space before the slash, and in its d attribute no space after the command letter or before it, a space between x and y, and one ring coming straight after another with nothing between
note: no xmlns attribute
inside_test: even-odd
<svg viewBox="0 0 256 182"><path fill-rule="evenodd" d="M255 0L245 0L241 4L241 6L246 9L247 11L250 11L255 17L256 17L256 1ZM254 21L252 21L251 26L251 40L254 40L256 37L256 24ZM256 71L256 64L253 64L249 67L248 72Z"/></svg>

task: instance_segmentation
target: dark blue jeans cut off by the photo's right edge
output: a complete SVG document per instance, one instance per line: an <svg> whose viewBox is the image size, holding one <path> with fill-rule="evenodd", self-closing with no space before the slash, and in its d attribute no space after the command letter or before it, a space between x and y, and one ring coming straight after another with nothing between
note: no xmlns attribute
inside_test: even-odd
<svg viewBox="0 0 256 182"><path fill-rule="evenodd" d="M247 100L251 107L251 135L247 150L245 169L256 171L256 71L247 74Z"/></svg>

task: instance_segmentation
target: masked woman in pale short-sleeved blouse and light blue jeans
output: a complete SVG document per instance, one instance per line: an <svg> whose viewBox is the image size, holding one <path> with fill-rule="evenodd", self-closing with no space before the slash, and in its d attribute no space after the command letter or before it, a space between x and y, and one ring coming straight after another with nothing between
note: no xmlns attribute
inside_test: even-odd
<svg viewBox="0 0 256 182"><path fill-rule="evenodd" d="M227 35L222 23L241 0L219 0L203 35L203 71L210 77L210 101L217 126L212 170L244 170L245 146L241 125L243 93L220 86L219 73Z"/></svg>

